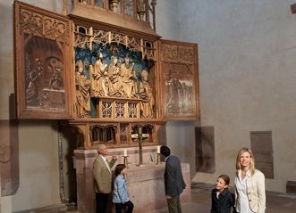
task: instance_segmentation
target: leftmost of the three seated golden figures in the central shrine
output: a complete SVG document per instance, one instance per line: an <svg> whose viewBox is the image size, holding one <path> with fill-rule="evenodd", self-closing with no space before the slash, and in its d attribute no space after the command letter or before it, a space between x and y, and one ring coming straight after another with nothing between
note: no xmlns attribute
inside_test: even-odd
<svg viewBox="0 0 296 213"><path fill-rule="evenodd" d="M93 92L94 96L106 96L108 94L108 73L106 71L107 64L103 63L103 54L97 53L97 61L94 65Z"/></svg>

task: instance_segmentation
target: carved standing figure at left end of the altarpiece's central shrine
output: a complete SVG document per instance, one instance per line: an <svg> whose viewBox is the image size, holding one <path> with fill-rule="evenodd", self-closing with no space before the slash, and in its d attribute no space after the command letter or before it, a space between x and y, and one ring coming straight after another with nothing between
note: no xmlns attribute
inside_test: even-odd
<svg viewBox="0 0 296 213"><path fill-rule="evenodd" d="M76 113L78 118L90 118L90 80L85 76L84 64L80 60L76 63Z"/></svg>

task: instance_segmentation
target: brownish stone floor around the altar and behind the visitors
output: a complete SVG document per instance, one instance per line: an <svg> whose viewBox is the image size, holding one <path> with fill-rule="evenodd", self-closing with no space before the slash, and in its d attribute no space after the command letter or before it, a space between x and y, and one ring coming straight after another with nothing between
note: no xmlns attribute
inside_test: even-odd
<svg viewBox="0 0 296 213"><path fill-rule="evenodd" d="M210 192L213 184L191 184L191 201L182 203L183 213L209 213L210 212ZM42 208L31 211L23 211L26 213L77 213L73 206L56 205L48 208ZM296 212L296 194L287 193L266 193L266 213L293 213ZM168 213L168 210L159 209L143 213Z"/></svg>

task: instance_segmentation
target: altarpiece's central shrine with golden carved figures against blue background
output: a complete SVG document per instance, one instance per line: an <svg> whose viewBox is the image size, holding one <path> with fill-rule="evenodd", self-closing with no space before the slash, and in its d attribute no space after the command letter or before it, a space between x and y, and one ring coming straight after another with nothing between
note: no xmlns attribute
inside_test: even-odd
<svg viewBox="0 0 296 213"><path fill-rule="evenodd" d="M78 20L76 118L156 119L154 41Z"/></svg>

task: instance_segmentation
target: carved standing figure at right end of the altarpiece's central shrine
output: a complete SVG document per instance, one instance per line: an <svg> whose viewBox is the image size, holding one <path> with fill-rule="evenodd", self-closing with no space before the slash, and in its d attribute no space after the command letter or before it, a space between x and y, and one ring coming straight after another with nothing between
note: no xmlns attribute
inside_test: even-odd
<svg viewBox="0 0 296 213"><path fill-rule="evenodd" d="M141 118L153 119L154 98L152 88L148 84L148 71L142 70L140 74L139 98Z"/></svg>

